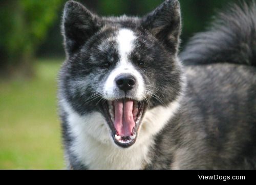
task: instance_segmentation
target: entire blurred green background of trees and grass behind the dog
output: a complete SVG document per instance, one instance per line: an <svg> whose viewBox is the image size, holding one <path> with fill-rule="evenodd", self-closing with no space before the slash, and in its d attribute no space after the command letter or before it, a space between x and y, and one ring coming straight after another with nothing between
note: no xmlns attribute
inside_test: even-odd
<svg viewBox="0 0 256 185"><path fill-rule="evenodd" d="M57 72L65 0L0 1L0 169L63 169ZM80 0L100 15L138 15L163 0ZM236 0L180 0L182 45ZM181 46L182 49L182 46Z"/></svg>

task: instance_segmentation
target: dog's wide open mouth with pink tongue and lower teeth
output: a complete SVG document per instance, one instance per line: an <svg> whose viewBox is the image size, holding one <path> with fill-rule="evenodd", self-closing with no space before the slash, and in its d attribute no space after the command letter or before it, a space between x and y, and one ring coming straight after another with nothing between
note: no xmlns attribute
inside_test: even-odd
<svg viewBox="0 0 256 185"><path fill-rule="evenodd" d="M118 146L127 148L135 143L144 104L144 101L127 98L102 103L112 137Z"/></svg>

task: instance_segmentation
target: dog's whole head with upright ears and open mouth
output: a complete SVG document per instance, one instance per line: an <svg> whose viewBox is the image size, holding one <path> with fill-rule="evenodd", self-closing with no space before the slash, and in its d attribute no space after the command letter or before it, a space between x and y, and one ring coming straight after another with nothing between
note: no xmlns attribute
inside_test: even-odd
<svg viewBox="0 0 256 185"><path fill-rule="evenodd" d="M60 98L81 116L100 113L116 145L133 145L145 112L168 105L181 90L179 35L176 0L143 18L99 17L68 2Z"/></svg>

